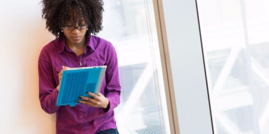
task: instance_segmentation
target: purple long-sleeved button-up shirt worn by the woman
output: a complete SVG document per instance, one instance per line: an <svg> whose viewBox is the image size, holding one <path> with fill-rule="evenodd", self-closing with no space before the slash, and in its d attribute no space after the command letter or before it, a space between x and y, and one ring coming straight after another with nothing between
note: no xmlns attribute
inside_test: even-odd
<svg viewBox="0 0 269 134"><path fill-rule="evenodd" d="M39 55L40 104L45 112L49 114L56 112L56 134L96 134L100 131L117 128L114 108L120 103L121 86L115 48L110 42L91 35L81 56L77 56L68 48L64 39L51 41L43 47ZM82 66L80 66L80 62ZM107 70L100 92L109 99L107 109L93 108L83 104L75 107L56 106L58 73L62 66L103 65L107 66Z"/></svg>

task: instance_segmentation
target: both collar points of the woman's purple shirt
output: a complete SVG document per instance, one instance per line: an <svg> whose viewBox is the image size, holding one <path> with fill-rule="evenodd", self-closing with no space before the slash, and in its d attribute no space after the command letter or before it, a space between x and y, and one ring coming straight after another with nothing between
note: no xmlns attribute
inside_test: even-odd
<svg viewBox="0 0 269 134"><path fill-rule="evenodd" d="M86 54L87 51L89 51L89 48L92 50L92 51L95 51L95 47L94 47L94 40L93 38L91 38L92 36L90 36L90 39L88 40L87 44L86 44L86 48L84 50L84 53ZM57 49L57 52L58 54L61 54L63 53L65 50L67 50L67 45L65 43L65 39L62 38L62 39L58 39L58 49Z"/></svg>

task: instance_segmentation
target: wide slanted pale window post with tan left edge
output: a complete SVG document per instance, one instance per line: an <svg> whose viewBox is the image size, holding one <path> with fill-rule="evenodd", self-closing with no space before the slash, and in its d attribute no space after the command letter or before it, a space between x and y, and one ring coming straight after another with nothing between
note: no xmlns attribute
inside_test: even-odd
<svg viewBox="0 0 269 134"><path fill-rule="evenodd" d="M170 132L214 134L197 1L153 0L153 5Z"/></svg>

